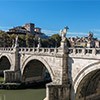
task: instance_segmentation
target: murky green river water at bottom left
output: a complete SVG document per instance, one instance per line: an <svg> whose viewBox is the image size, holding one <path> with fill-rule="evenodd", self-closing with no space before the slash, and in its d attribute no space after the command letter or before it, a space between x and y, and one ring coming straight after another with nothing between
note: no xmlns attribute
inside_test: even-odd
<svg viewBox="0 0 100 100"><path fill-rule="evenodd" d="M0 100L43 100L45 89L0 90Z"/></svg>

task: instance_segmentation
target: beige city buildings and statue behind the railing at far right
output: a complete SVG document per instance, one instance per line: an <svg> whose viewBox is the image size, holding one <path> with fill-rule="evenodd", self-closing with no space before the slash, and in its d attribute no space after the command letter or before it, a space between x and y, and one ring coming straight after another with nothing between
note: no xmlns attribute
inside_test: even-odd
<svg viewBox="0 0 100 100"><path fill-rule="evenodd" d="M87 37L70 37L68 38L71 47L100 47L100 41L93 37L93 33L89 32Z"/></svg>

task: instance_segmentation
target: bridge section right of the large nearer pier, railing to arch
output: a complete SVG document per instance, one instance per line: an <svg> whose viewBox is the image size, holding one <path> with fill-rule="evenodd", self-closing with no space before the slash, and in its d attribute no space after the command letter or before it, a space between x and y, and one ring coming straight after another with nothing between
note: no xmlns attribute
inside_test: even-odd
<svg viewBox="0 0 100 100"><path fill-rule="evenodd" d="M71 96L75 100L99 100L100 48L69 48L68 62Z"/></svg>

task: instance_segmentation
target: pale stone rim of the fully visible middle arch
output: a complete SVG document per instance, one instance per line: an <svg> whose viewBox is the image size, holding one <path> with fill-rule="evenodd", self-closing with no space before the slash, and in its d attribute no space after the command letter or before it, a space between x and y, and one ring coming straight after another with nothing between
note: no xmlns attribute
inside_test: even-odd
<svg viewBox="0 0 100 100"><path fill-rule="evenodd" d="M54 73L53 73L50 65L47 63L47 61L44 58L42 58L40 56L30 56L23 62L22 69L21 69L21 76L23 76L25 66L28 64L28 62L30 62L32 60L40 61L46 67L46 69L48 70L48 72L49 72L49 74L51 76L51 79L52 80L54 79Z"/></svg>

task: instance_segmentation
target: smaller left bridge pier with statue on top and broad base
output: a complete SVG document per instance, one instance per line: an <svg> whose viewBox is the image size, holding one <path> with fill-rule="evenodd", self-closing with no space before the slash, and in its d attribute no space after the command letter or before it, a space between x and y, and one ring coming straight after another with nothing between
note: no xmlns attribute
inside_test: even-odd
<svg viewBox="0 0 100 100"><path fill-rule="evenodd" d="M16 37L12 57L13 57L13 62L14 62L12 69L4 71L4 79L5 79L5 82L11 82L11 83L20 82L21 72L20 72L18 37Z"/></svg>

